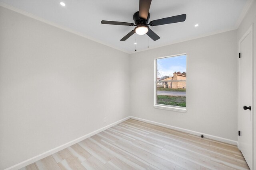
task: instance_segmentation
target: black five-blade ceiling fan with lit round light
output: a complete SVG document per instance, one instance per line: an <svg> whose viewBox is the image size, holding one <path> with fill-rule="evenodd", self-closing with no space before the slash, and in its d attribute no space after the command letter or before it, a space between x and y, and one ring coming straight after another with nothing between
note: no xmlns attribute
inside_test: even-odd
<svg viewBox="0 0 256 170"><path fill-rule="evenodd" d="M162 18L154 21L150 21L148 24L148 20L150 18L149 14L149 8L150 8L151 0L140 0L140 6L139 11L135 12L133 15L134 23L128 23L128 22L118 22L118 21L105 21L102 20L102 24L110 24L110 25L126 25L126 26L136 26L135 29L130 31L127 35L125 35L120 41L125 41L130 36L132 36L134 33L137 33L138 35L144 35L147 34L151 39L154 41L160 39L160 37L152 31L148 27L150 26L157 26L157 25L164 25L169 23L176 23L176 22L183 22L186 20L186 14L178 15L178 16L172 16L168 18Z"/></svg>

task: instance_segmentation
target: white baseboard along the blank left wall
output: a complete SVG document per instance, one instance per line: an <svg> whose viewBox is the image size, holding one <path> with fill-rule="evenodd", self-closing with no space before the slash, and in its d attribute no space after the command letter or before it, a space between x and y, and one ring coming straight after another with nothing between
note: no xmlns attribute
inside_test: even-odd
<svg viewBox="0 0 256 170"><path fill-rule="evenodd" d="M84 135L84 136L82 136L82 137L79 137L79 138L77 138L77 139L74 139L73 141L70 141L70 142L68 142L68 143L65 143L64 145L60 145L59 147L56 147L56 148L51 149L51 150L48 150L48 151L46 151L46 152L44 152L44 153L42 153L42 154L39 154L39 155L37 155L37 156L34 156L34 157L30 158L30 159L24 160L23 162L20 162L20 163L14 165L14 166L11 166L11 167L9 167L9 168L6 168L5 170L18 170L18 169L20 169L20 168L23 168L24 166L27 166L27 165L29 165L29 164L32 164L32 163L34 163L34 162L36 162L36 161L38 161L38 160L40 160L40 159L42 159L42 158L45 158L45 157L47 157L47 156L50 156L51 154L54 154L54 153L56 153L56 152L58 152L58 151L60 151L60 150L62 150L62 149L65 149L65 148L67 148L67 147L70 147L70 146L72 146L72 145L74 145L74 144L76 144L76 143L78 143L78 142L80 142L80 141L83 141L84 139L86 139L86 138L88 138L88 137L91 137L91 136L93 136L93 135L95 135L95 134L97 134L97 133L100 133L101 131L104 131L104 130L106 130L106 129L108 129L108 128L114 126L114 125L117 125L118 123L121 123L121 122L123 122L123 121L126 121L127 119L130 119L130 116L128 116L128 117L126 117L126 118L124 118L124 119L121 119L121 120L119 120L119 121L116 121L116 122L114 122L114 123L111 123L110 125L107 125L107 126L105 126L105 127L102 127L102 128L100 128L100 129L98 129L98 130L96 130L96 131L93 131L93 132L91 132L91 133L88 133L88 134L86 134L86 135Z"/></svg>

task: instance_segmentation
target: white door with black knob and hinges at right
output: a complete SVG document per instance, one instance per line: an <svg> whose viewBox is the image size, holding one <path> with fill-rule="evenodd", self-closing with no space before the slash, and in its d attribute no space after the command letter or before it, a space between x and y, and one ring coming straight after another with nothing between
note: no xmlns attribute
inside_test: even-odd
<svg viewBox="0 0 256 170"><path fill-rule="evenodd" d="M252 169L252 27L240 39L239 52L240 150Z"/></svg>

